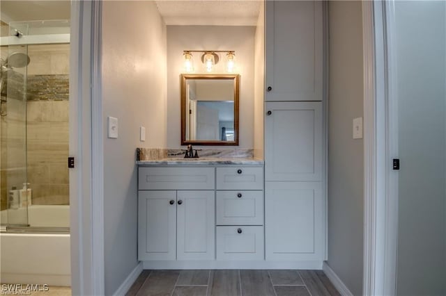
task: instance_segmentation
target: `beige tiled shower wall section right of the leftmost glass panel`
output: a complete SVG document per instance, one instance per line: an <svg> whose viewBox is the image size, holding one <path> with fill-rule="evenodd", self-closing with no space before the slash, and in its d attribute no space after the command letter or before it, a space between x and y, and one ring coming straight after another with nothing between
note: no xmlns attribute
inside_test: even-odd
<svg viewBox="0 0 446 296"><path fill-rule="evenodd" d="M27 178L33 204L69 204L69 44L29 45Z"/></svg>

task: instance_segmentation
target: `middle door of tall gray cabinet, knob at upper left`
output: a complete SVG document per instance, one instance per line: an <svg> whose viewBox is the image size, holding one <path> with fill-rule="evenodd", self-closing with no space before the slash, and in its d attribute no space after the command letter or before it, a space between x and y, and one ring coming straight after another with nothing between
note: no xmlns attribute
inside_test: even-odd
<svg viewBox="0 0 446 296"><path fill-rule="evenodd" d="M266 110L266 181L321 181L322 102L271 102Z"/></svg>

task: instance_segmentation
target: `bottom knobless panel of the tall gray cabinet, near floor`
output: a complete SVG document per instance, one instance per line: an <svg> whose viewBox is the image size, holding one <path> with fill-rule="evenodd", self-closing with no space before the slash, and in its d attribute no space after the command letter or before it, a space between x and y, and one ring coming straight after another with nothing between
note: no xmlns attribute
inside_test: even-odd
<svg viewBox="0 0 446 296"><path fill-rule="evenodd" d="M323 260L321 182L266 182L267 260Z"/></svg>

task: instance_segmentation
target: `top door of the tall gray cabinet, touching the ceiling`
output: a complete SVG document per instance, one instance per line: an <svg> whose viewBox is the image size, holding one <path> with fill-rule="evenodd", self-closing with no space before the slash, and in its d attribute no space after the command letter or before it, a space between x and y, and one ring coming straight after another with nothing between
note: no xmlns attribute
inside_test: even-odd
<svg viewBox="0 0 446 296"><path fill-rule="evenodd" d="M266 1L265 26L266 101L322 101L322 1Z"/></svg>

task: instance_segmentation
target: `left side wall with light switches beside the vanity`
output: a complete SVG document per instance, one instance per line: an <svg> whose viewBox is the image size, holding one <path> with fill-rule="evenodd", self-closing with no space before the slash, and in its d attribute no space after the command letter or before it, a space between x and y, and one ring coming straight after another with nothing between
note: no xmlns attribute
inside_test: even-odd
<svg viewBox="0 0 446 296"><path fill-rule="evenodd" d="M153 1L104 1L105 294L137 266L136 147L166 147L166 26ZM107 138L107 116L119 138ZM146 142L139 142L146 126Z"/></svg>

